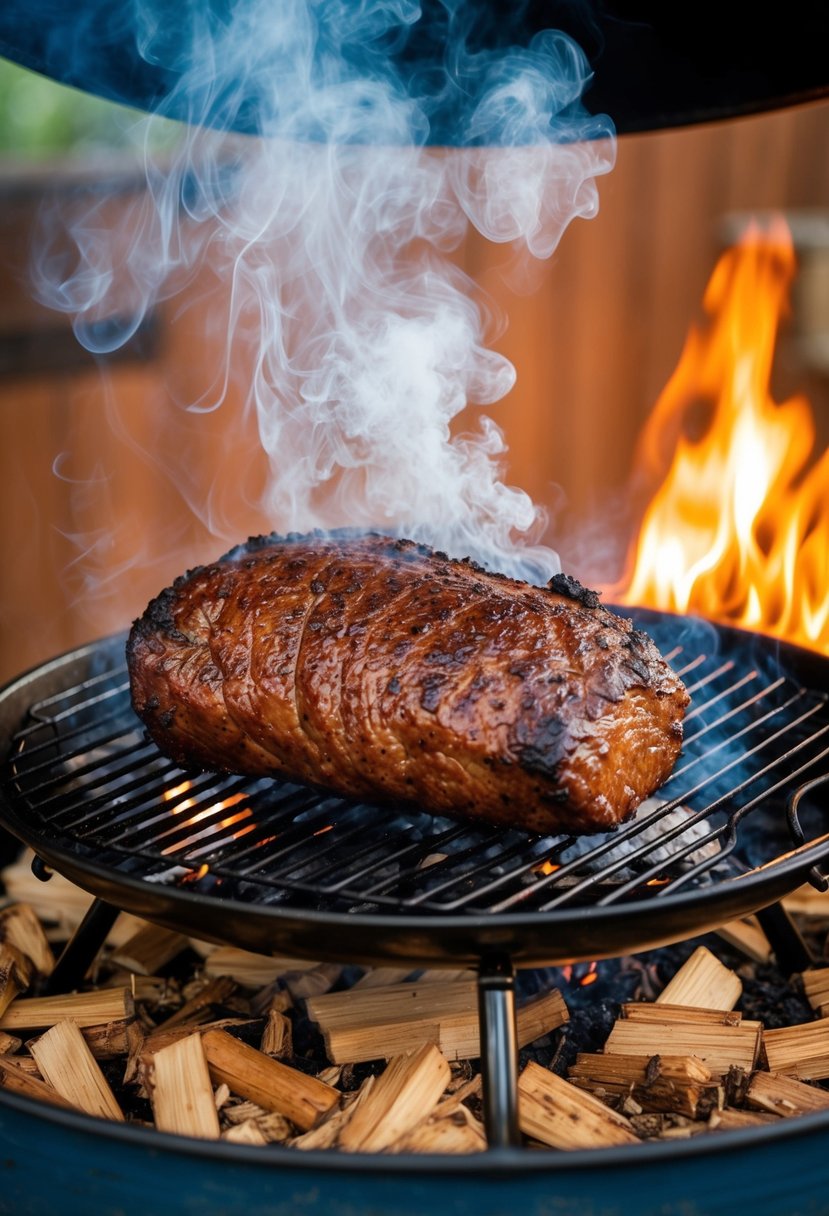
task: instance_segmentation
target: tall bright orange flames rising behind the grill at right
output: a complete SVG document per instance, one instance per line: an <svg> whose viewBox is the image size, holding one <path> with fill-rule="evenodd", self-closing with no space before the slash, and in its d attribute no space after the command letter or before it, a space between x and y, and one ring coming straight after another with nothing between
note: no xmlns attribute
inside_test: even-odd
<svg viewBox="0 0 829 1216"><path fill-rule="evenodd" d="M801 396L769 379L796 266L788 225L752 224L720 259L679 364L639 440L662 475L617 602L697 613L829 653L829 450L813 460Z"/></svg>

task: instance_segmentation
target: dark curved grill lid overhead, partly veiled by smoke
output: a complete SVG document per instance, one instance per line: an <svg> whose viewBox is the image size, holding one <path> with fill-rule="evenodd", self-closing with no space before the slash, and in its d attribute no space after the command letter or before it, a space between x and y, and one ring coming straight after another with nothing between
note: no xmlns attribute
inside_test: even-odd
<svg viewBox="0 0 829 1216"><path fill-rule="evenodd" d="M486 56L526 50L543 30L562 30L582 49L592 72L586 108L607 113L619 133L731 118L829 94L823 0L771 10L721 0L423 0L388 7L385 28L378 24L372 36L349 45L337 23L343 7L309 4L315 72L329 72L334 62L344 77L393 79L428 118L418 142L474 142L468 119ZM278 9L263 0L7 0L0 54L140 109L162 107L171 118L259 131L269 108L272 117L272 102L263 102L256 71L218 89L205 80L197 95L180 89L182 67L196 30L215 45L232 21L255 26ZM468 55L458 55L459 47ZM271 72L277 106L278 71L277 64ZM594 131L604 133L604 126Z"/></svg>

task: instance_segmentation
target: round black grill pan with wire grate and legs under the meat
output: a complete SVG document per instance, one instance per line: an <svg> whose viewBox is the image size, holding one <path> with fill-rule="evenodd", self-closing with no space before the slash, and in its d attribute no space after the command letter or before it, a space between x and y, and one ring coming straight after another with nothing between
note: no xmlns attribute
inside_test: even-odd
<svg viewBox="0 0 829 1216"><path fill-rule="evenodd" d="M515 966L641 951L827 885L827 660L635 615L690 692L686 743L644 814L587 840L186 773L132 713L123 635L15 681L2 822L97 900L56 986L83 976L118 910L264 953L474 966L487 1136L519 1143Z"/></svg>

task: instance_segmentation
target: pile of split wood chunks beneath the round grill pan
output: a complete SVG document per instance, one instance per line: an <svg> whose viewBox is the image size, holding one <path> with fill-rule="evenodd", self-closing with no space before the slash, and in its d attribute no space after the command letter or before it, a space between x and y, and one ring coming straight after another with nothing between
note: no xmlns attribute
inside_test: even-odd
<svg viewBox="0 0 829 1216"><path fill-rule="evenodd" d="M474 1153L481 1122L470 972L365 970L196 942L120 916L83 991L38 996L90 897L22 858L0 874L0 1087L102 1119L244 1144ZM829 921L829 896L791 907ZM722 935L756 961L756 922ZM190 958L185 978L171 966ZM171 979L170 975L175 975ZM699 946L655 1001L622 1004L600 1052L560 1076L519 1079L528 1147L598 1148L773 1122L829 1108L829 968L795 978L814 1009L766 1029L737 1012L743 985ZM340 984L342 987L342 984ZM518 1009L521 1047L569 1019L551 989ZM327 1060L303 1047L309 1025ZM317 1034L318 1031L318 1034Z"/></svg>

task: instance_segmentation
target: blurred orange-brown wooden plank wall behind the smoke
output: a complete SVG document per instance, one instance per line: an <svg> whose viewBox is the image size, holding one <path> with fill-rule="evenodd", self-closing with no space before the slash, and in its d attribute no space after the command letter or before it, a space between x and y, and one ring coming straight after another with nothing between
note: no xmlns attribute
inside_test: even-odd
<svg viewBox="0 0 829 1216"><path fill-rule="evenodd" d="M492 409L508 480L551 507L549 539L576 573L597 576L590 537L624 517L636 437L699 315L723 218L829 212L828 152L827 103L626 136L598 216L565 232L529 293L507 286L503 249L467 241L466 269L509 317L497 345L518 383ZM148 356L38 360L66 337L27 285L38 191L0 174L0 340L41 343L0 377L1 680L125 626L186 567L278 525L252 505L265 468L238 393L218 412L187 410L218 367L207 278L187 309L162 311ZM794 348L779 364L780 392L808 392L825 443L825 373ZM190 507L205 502L214 534Z"/></svg>

